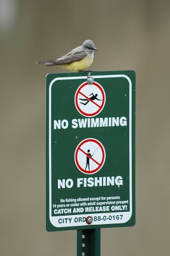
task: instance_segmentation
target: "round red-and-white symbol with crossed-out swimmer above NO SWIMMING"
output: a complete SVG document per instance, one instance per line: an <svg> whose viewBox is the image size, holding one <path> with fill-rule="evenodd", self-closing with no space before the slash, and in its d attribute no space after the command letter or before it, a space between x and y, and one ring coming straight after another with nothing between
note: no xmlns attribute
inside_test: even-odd
<svg viewBox="0 0 170 256"><path fill-rule="evenodd" d="M81 84L75 94L76 109L83 116L96 116L104 108L106 96L101 84Z"/></svg>

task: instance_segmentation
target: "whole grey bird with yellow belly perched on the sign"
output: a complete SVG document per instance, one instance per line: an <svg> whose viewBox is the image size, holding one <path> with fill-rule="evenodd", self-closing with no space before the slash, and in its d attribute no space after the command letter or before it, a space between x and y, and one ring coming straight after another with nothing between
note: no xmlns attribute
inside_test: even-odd
<svg viewBox="0 0 170 256"><path fill-rule="evenodd" d="M85 40L81 46L74 48L59 59L38 61L37 64L45 64L46 66L61 65L63 68L74 72L83 71L92 65L94 51L97 51L94 42L92 40Z"/></svg>

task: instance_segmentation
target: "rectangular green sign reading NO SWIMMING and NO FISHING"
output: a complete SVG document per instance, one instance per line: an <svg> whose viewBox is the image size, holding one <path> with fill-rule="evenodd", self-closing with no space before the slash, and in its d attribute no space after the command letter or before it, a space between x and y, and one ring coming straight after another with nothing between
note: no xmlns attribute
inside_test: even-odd
<svg viewBox="0 0 170 256"><path fill-rule="evenodd" d="M135 72L46 76L46 230L135 223Z"/></svg>

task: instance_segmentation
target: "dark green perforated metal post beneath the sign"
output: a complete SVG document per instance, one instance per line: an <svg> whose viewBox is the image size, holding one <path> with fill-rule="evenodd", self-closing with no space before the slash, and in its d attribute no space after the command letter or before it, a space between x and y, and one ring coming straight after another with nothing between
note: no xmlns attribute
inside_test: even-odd
<svg viewBox="0 0 170 256"><path fill-rule="evenodd" d="M101 255L101 228L77 230L77 256Z"/></svg>

